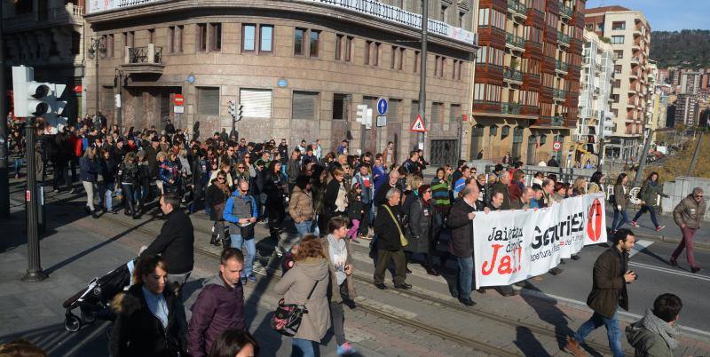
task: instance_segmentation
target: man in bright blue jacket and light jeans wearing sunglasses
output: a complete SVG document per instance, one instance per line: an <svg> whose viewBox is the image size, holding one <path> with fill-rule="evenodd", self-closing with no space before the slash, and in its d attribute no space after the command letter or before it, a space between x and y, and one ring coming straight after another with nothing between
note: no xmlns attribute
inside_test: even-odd
<svg viewBox="0 0 710 357"><path fill-rule="evenodd" d="M244 274L241 275L241 284L256 282L256 276L252 272L254 257L256 257L256 242L254 241L254 226L256 218L259 218L256 210L256 200L249 192L249 183L241 179L237 183L237 189L227 199L225 203L225 213L222 215L225 221L229 222L229 235L232 238L232 247L242 252L246 249L246 261L244 264ZM244 248L242 248L242 246Z"/></svg>

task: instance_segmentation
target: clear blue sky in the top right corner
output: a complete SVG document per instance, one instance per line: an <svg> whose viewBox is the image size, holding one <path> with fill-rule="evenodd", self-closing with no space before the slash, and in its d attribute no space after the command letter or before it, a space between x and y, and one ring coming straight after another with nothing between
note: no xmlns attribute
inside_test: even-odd
<svg viewBox="0 0 710 357"><path fill-rule="evenodd" d="M710 0L587 0L587 8L621 5L643 12L651 30L710 29Z"/></svg>

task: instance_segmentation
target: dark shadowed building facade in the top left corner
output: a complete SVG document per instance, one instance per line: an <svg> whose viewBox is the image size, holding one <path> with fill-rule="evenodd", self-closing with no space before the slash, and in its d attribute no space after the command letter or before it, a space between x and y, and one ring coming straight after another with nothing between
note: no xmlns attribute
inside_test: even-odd
<svg viewBox="0 0 710 357"><path fill-rule="evenodd" d="M15 0L3 4L6 78L12 66L35 68L38 82L67 85L64 116L82 113L83 0ZM12 83L12 82L10 82Z"/></svg>

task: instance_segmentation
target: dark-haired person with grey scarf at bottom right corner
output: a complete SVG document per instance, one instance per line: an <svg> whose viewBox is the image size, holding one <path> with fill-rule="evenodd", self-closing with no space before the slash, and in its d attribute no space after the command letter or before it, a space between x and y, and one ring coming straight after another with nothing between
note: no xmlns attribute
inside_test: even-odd
<svg viewBox="0 0 710 357"><path fill-rule="evenodd" d="M637 357L671 357L678 348L681 329L678 314L681 313L681 298L673 294L661 294L653 302L653 309L646 309L643 318L627 326L628 344L634 347Z"/></svg>

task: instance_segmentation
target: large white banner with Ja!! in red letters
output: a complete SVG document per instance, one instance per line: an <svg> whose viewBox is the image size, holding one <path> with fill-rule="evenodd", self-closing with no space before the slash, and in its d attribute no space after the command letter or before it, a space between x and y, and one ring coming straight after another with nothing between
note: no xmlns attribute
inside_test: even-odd
<svg viewBox="0 0 710 357"><path fill-rule="evenodd" d="M541 210L479 212L473 219L476 289L545 274L583 246L606 242L604 194Z"/></svg>

